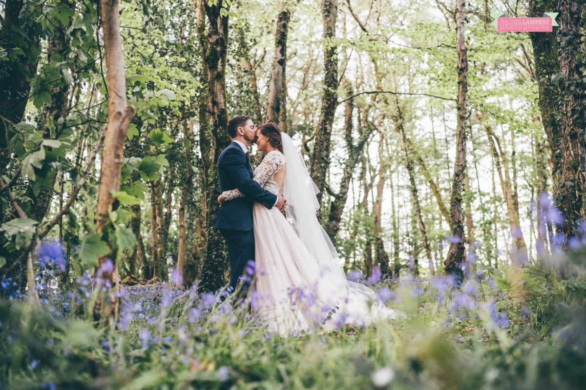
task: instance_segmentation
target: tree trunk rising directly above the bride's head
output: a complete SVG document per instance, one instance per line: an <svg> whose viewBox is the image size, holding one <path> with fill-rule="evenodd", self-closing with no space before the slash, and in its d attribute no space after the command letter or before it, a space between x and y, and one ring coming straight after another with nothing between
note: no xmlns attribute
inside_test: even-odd
<svg viewBox="0 0 586 390"><path fill-rule="evenodd" d="M268 85L267 113L265 122L274 122L287 132L287 96L285 95L285 65L287 64L287 31L291 13L287 2L281 2L275 32L275 58L272 63L271 81Z"/></svg>

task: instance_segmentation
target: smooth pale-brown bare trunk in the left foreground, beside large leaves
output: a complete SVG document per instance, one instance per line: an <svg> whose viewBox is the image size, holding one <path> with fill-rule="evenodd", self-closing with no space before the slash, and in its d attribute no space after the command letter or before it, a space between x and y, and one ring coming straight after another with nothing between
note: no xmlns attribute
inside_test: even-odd
<svg viewBox="0 0 586 390"><path fill-rule="evenodd" d="M124 57L122 56L122 39L118 25L118 0L101 0L101 18L104 29L104 49L108 69L108 118L104 140L104 154L101 160L100 188L98 189L97 227L98 233L108 237L107 230L113 229L108 217L108 208L114 203L111 191L120 189L120 170L124 160L124 141L128 125L134 116L134 107L126 103L126 84L124 75ZM109 242L111 248L113 243ZM114 252L114 250L113 250ZM100 259L103 263L107 257ZM110 254L115 263L115 253ZM120 286L117 280L117 270L114 264L113 272L105 272L104 277L114 281L115 289ZM118 316L118 298L111 297L111 305L105 304L105 297L101 299L100 318L107 325L106 320Z"/></svg>

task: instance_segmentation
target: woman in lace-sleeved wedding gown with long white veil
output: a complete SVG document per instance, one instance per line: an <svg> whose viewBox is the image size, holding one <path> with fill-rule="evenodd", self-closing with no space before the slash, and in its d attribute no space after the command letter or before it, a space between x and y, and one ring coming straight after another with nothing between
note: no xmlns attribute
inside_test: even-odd
<svg viewBox="0 0 586 390"><path fill-rule="evenodd" d="M283 336L369 325L403 316L387 308L369 287L346 279L328 234L319 225L319 192L291 137L274 123L258 127L257 146L267 152L254 170L254 181L287 199L285 214L253 206L255 275L252 306L272 332ZM220 204L244 196L224 191Z"/></svg>

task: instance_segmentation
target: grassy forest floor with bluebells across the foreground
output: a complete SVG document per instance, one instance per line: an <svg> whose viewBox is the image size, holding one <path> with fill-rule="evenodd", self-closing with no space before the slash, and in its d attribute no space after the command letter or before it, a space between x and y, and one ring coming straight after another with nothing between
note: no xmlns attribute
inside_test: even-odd
<svg viewBox="0 0 586 390"><path fill-rule="evenodd" d="M460 287L378 281L407 319L286 338L197 285L163 283L122 288L117 327L104 332L87 313L93 279L62 292L40 284L39 311L18 298L0 306L0 388L581 388L586 279L571 270L484 268Z"/></svg>

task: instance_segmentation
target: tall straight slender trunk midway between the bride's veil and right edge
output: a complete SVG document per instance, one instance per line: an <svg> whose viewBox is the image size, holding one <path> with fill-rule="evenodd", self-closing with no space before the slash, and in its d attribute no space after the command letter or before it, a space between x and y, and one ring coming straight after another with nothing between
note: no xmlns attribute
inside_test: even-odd
<svg viewBox="0 0 586 390"><path fill-rule="evenodd" d="M462 218L462 183L466 175L466 91L468 91L468 60L466 58L466 44L464 40L464 0L456 2L456 51L458 53L458 118L456 120L456 161L454 164L454 178L452 179L452 194L450 212L452 219L452 243L449 246L448 258L444 267L448 274L456 276L462 281L462 263L464 262L464 219Z"/></svg>

